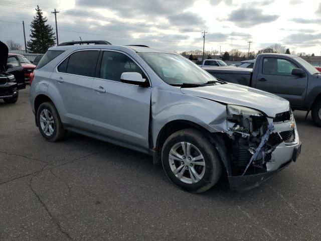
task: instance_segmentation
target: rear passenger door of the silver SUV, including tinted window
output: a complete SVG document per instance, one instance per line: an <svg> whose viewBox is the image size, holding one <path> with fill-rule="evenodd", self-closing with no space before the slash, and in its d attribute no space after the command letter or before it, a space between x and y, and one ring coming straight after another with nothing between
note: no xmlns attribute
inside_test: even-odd
<svg viewBox="0 0 321 241"><path fill-rule="evenodd" d="M100 50L80 50L62 61L52 74L58 111L66 125L91 130L91 86Z"/></svg>

